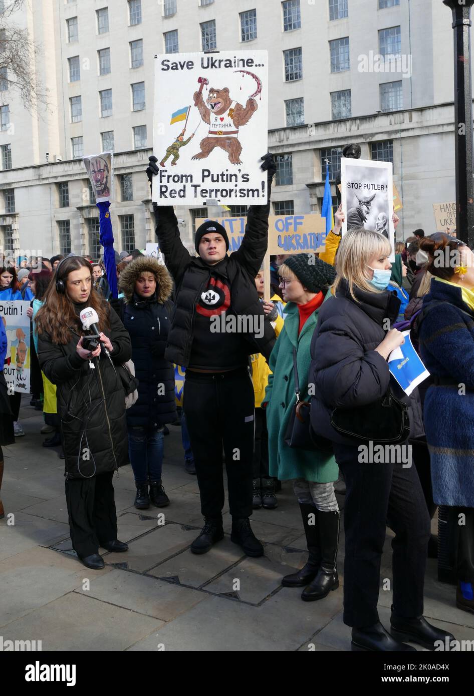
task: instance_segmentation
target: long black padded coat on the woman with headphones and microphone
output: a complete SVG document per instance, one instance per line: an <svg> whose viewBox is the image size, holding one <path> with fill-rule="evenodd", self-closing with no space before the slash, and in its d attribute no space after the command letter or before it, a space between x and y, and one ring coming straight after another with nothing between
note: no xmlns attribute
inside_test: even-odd
<svg viewBox="0 0 474 696"><path fill-rule="evenodd" d="M77 306L78 315L86 306ZM111 340L113 365L101 354L93 358L94 370L76 351L79 331L71 331L67 345L53 343L48 333L38 335L40 367L57 386L68 478L88 478L128 464L125 392L116 367L130 359L132 345L127 330L110 309L109 321L109 330L100 329Z"/></svg>

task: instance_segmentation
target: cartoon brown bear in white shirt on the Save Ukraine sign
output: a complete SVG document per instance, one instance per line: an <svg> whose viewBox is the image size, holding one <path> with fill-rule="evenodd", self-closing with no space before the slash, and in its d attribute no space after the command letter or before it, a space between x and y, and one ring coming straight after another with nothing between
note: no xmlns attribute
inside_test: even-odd
<svg viewBox="0 0 474 696"><path fill-rule="evenodd" d="M232 101L227 87L223 89L210 88L209 96L204 101L200 92L193 95L194 106L197 106L201 118L209 125L209 133L200 141L200 152L192 159L209 157L214 148L222 148L229 155L232 164L242 164L239 143L239 127L251 120L258 104L254 99L248 99L245 106Z"/></svg>

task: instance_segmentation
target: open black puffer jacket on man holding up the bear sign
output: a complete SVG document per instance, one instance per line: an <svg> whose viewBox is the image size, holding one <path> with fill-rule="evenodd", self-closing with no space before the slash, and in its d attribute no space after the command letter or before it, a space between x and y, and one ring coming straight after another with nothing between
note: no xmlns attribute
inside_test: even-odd
<svg viewBox="0 0 474 696"><path fill-rule="evenodd" d="M268 180L269 196L270 191L271 178ZM184 247L172 206L157 207L155 204L154 208L159 247L164 253L166 267L173 276L176 287L176 307L165 357L177 365L187 367L193 342L196 303L207 287L211 272L228 278L232 313L252 317L264 314L254 279L267 252L270 203L251 205L248 208L242 245L214 266L208 266L200 258L191 256ZM252 325L253 322L250 326ZM262 353L265 358L269 358L276 340L270 322L264 322L262 338L255 338L251 333L243 334L243 338L248 344L248 355Z"/></svg>

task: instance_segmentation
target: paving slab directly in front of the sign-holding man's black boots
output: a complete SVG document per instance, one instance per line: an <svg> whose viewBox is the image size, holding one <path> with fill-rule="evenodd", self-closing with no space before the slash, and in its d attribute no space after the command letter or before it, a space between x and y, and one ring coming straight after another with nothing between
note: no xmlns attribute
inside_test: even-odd
<svg viewBox="0 0 474 696"><path fill-rule="evenodd" d="M215 544L209 553L196 555L188 548L148 571L148 575L155 578L178 578L182 585L201 587L230 565L237 563L242 557L244 557L242 549L232 544L230 538L226 536L219 541L219 544Z"/></svg>

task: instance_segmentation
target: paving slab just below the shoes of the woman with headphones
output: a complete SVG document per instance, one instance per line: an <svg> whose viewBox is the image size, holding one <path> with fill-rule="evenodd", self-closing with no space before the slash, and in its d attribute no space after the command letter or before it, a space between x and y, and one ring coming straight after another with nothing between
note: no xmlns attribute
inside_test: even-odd
<svg viewBox="0 0 474 696"><path fill-rule="evenodd" d="M171 621L206 599L203 592L123 570L92 580L89 591L76 592L162 621Z"/></svg>

